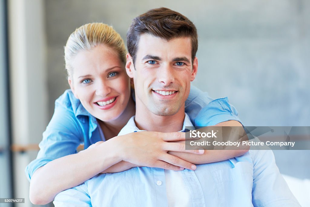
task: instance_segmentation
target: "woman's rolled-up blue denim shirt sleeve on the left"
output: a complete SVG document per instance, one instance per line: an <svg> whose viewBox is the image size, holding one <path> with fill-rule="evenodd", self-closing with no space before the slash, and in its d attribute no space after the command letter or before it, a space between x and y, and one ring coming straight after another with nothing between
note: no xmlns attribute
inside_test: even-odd
<svg viewBox="0 0 310 207"><path fill-rule="evenodd" d="M70 108L56 105L54 115L43 132L39 144L40 151L37 159L25 168L26 177L30 181L33 173L48 162L77 153L77 147L82 142L81 127Z"/></svg>

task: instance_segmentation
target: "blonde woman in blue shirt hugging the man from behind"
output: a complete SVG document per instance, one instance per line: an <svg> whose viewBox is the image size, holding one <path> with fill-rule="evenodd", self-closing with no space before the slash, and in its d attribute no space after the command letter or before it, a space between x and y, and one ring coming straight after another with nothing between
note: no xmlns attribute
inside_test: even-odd
<svg viewBox="0 0 310 207"><path fill-rule="evenodd" d="M65 63L71 90L56 100L38 157L26 168L33 204L46 204L60 191L103 171L120 172L135 166L195 170L196 166L184 156L179 158L178 153L197 154L195 163L245 153L246 150L225 153L184 150L183 143L173 143L184 140L184 133L145 131L117 136L135 114L125 56L124 42L111 26L86 24L70 35L65 46ZM229 107L230 115L233 110ZM237 119L230 117L219 122L227 120ZM84 149L95 145L76 153L79 144L84 144Z"/></svg>

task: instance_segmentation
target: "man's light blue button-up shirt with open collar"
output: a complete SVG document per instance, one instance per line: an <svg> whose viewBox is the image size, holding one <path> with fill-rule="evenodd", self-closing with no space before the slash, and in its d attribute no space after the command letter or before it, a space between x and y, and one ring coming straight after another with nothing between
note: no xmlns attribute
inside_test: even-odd
<svg viewBox="0 0 310 207"><path fill-rule="evenodd" d="M185 117L184 127L192 126ZM120 135L140 131L132 117ZM279 173L271 150L250 150L229 160L184 169L182 175L194 207L300 206ZM55 207L167 206L165 170L135 167L99 174L56 195Z"/></svg>

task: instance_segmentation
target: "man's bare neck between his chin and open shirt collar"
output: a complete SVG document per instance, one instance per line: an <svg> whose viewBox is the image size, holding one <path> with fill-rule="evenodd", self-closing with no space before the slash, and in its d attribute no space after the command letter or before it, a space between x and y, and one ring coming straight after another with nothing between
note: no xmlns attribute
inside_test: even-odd
<svg viewBox="0 0 310 207"><path fill-rule="evenodd" d="M142 104L143 105L143 104ZM136 108L135 124L140 130L175 132L181 131L185 118L185 108L172 116L158 116L150 112L144 105Z"/></svg>

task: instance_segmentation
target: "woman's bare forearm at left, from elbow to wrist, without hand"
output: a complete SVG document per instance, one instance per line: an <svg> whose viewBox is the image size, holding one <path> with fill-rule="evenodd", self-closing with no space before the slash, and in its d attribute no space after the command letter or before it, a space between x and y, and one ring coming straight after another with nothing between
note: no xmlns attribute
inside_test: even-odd
<svg viewBox="0 0 310 207"><path fill-rule="evenodd" d="M77 186L120 162L122 158L115 149L111 140L85 152L55 159L38 168L30 182L30 201L38 205L47 204L57 193Z"/></svg>

